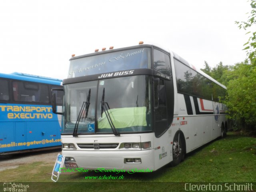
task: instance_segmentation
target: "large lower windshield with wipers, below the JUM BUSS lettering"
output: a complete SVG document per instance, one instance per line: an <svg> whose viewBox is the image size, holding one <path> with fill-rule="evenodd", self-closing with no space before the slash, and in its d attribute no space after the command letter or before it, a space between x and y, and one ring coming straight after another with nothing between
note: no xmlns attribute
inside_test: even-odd
<svg viewBox="0 0 256 192"><path fill-rule="evenodd" d="M79 114L77 134L152 131L151 82L149 76L140 75L64 85L63 133L73 133ZM81 108L89 90L86 116Z"/></svg>

